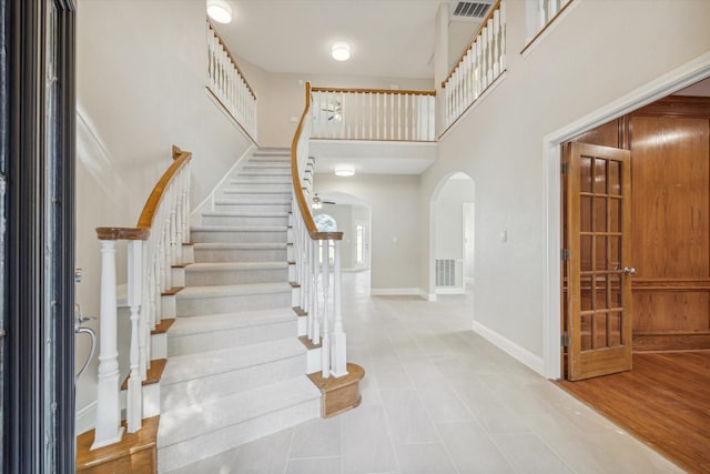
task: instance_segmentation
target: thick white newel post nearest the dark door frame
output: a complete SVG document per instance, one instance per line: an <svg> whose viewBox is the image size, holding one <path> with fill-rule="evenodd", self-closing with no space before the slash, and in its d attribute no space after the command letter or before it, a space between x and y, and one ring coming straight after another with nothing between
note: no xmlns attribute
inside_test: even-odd
<svg viewBox="0 0 710 474"><path fill-rule="evenodd" d="M97 428L92 450L123 436L119 404L119 351L115 296L115 241L101 240L101 317Z"/></svg>

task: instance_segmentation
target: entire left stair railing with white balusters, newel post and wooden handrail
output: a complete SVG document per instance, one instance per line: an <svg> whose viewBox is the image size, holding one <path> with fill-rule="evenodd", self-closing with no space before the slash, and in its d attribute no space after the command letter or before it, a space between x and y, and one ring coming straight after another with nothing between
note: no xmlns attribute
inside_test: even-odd
<svg viewBox="0 0 710 474"><path fill-rule="evenodd" d="M135 228L98 228L101 240L101 313L95 437L91 448L121 441L116 243L128 242L128 304L131 312L126 425L141 428L142 382L151 363L151 331L161 321L163 293L171 286L172 265L182 262L190 210L192 153L173 147L173 163L145 202Z"/></svg>

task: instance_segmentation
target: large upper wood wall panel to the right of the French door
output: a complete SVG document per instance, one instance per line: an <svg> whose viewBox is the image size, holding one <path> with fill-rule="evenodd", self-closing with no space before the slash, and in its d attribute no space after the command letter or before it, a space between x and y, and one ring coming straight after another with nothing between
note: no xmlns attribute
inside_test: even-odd
<svg viewBox="0 0 710 474"><path fill-rule="evenodd" d="M637 281L710 275L708 120L633 117Z"/></svg>

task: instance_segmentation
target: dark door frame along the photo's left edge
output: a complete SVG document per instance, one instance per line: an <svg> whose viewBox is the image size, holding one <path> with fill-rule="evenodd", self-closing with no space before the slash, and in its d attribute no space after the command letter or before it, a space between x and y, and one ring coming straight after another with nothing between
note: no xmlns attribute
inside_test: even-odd
<svg viewBox="0 0 710 474"><path fill-rule="evenodd" d="M4 473L74 471L74 16L0 0Z"/></svg>

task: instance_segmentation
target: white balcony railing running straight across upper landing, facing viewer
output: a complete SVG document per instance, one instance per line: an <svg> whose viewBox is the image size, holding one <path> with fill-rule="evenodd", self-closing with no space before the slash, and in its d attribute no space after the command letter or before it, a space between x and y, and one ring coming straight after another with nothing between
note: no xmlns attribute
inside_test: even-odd
<svg viewBox="0 0 710 474"><path fill-rule="evenodd" d="M312 88L313 139L434 141L435 91Z"/></svg>

